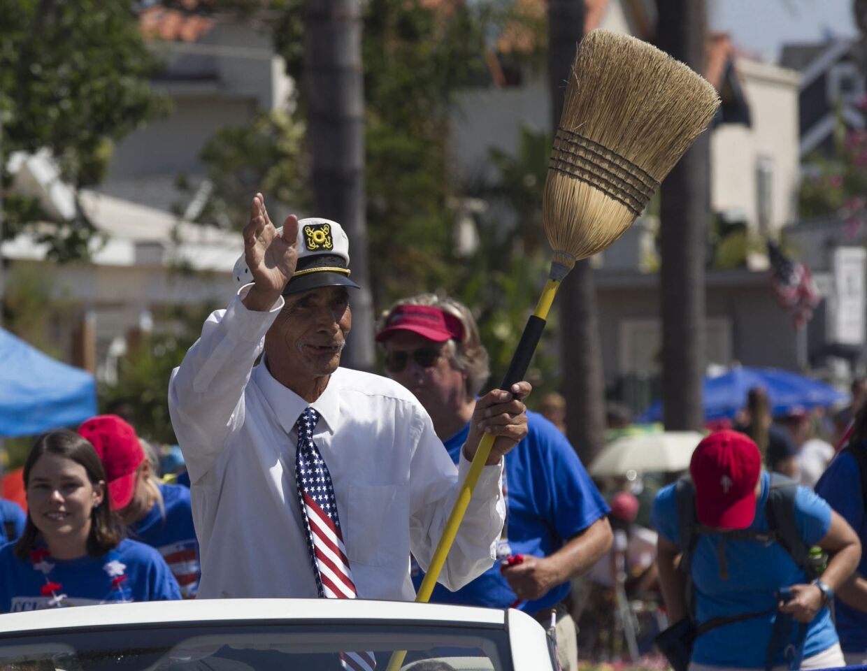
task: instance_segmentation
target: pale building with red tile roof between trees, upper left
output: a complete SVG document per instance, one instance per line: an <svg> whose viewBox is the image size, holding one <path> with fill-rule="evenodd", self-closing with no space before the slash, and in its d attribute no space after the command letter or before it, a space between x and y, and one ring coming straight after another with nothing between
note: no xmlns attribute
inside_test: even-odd
<svg viewBox="0 0 867 671"><path fill-rule="evenodd" d="M200 153L213 134L243 126L257 112L284 109L293 82L274 52L271 26L186 16L160 4L144 10L140 23L166 62L152 86L168 95L172 109L118 143L98 190L170 212L189 198L175 188L177 177L200 181Z"/></svg>

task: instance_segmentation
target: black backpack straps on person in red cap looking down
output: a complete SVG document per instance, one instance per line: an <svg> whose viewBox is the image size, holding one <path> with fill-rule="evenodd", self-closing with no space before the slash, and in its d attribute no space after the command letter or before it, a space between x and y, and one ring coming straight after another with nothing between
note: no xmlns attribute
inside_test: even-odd
<svg viewBox="0 0 867 671"><path fill-rule="evenodd" d="M687 612L693 617L693 581L690 573L691 561L695 544L701 535L720 536L726 541L754 540L759 543L779 543L792 557L792 561L804 570L807 579L818 577L815 566L810 559L810 546L806 544L795 523L795 493L798 483L779 473L771 473L771 486L765 504L768 531L753 531L750 529L718 531L699 524L695 518L695 488L692 479L681 478L675 485L677 498L677 514L680 522L681 537L681 570L687 576ZM725 554L720 544L720 574L727 577ZM740 618L739 618L740 619Z"/></svg>

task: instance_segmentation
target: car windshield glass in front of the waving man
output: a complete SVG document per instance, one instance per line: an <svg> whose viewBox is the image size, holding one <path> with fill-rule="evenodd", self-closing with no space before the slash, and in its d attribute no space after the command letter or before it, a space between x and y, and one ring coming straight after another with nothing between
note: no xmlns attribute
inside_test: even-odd
<svg viewBox="0 0 867 671"><path fill-rule="evenodd" d="M359 623L161 625L0 639L0 671L512 671L503 629ZM368 666L364 663L368 661ZM355 664L355 666L354 666Z"/></svg>

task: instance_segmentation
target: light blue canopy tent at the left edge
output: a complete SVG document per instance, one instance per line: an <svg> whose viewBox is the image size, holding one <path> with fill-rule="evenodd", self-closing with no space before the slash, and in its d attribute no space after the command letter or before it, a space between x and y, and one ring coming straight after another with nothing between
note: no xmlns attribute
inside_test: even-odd
<svg viewBox="0 0 867 671"><path fill-rule="evenodd" d="M71 427L96 414L96 379L0 329L0 437Z"/></svg>

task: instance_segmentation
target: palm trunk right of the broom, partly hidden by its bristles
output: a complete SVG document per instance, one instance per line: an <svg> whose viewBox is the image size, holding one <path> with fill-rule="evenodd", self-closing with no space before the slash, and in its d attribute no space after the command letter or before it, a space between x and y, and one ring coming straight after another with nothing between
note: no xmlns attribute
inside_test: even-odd
<svg viewBox="0 0 867 671"><path fill-rule="evenodd" d="M704 0L657 0L661 49L704 71ZM701 429L705 361L705 242L710 211L710 140L701 134L662 183L661 311L663 422Z"/></svg>

